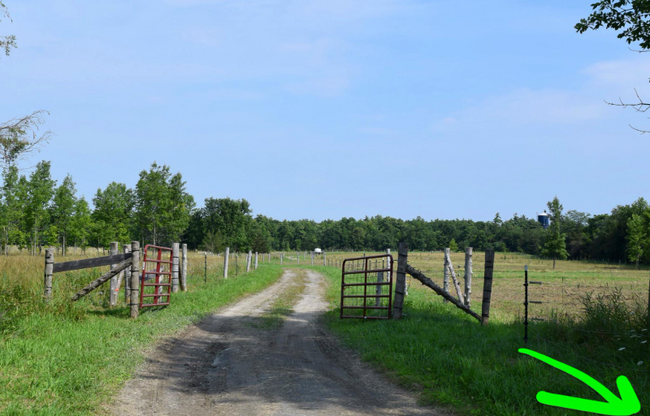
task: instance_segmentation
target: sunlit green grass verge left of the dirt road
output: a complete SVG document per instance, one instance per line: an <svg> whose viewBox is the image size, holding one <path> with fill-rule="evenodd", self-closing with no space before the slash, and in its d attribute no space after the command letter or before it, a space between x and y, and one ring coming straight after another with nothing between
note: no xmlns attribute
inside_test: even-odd
<svg viewBox="0 0 650 416"><path fill-rule="evenodd" d="M189 291L165 309L128 319L128 309L92 308L75 313L48 308L14 322L0 338L0 414L94 415L143 361L142 349L195 323L216 308L275 282L282 269L263 265L227 280L189 279Z"/></svg>

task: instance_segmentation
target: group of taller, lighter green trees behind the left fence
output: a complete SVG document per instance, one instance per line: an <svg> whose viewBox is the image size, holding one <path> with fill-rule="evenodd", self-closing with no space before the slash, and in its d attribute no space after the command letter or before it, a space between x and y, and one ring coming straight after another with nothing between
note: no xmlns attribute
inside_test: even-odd
<svg viewBox="0 0 650 416"><path fill-rule="evenodd" d="M3 253L10 246L32 254L45 246L66 253L76 246L106 248L111 241L180 241L194 210L194 198L185 191L180 173L155 162L140 172L135 189L112 182L98 189L93 208L77 196L67 175L61 184L52 179L50 162L38 163L29 177L15 165L5 166L0 188L0 230Z"/></svg>

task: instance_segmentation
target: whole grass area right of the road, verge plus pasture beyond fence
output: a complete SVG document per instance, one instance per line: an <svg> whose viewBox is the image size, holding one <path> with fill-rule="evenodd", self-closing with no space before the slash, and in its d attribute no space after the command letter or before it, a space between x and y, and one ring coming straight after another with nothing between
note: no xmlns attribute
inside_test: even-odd
<svg viewBox="0 0 650 416"><path fill-rule="evenodd" d="M358 255L331 253L328 257ZM463 254L452 255L457 273L463 259ZM479 313L483 262L484 254L475 253L472 309ZM414 253L409 263L442 284L441 253ZM597 289L591 302L586 302L589 313L579 302L570 305L564 315L558 314L558 310L553 314L540 312L549 320L531 324L526 347L586 372L617 395L616 378L627 376L641 401L639 414L650 415L647 270L568 261L558 262L552 270L550 261L498 253L490 323L481 326L474 318L443 303L415 279L409 279L409 296L401 321L341 320L340 269L319 266L328 278L328 299L332 305L325 323L365 361L416 391L423 403L448 406L458 414L468 415L585 414L541 405L535 399L538 391L545 390L603 400L577 379L518 353L524 347L524 329L519 318L523 311L525 264L529 265L531 279L548 282L548 286L562 288L564 280L565 288L580 285ZM601 287L605 283L609 288ZM612 291L613 286L625 285L638 288L634 289L638 293L625 289L617 296ZM587 290L574 292L572 302L584 298L586 293ZM598 293L602 295L600 299ZM558 290L548 292L547 298L559 309L562 295Z"/></svg>

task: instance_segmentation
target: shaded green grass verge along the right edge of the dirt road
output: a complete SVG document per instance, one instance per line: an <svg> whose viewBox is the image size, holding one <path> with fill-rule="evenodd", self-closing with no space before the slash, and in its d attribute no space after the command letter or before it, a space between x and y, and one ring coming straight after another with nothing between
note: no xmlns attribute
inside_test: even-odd
<svg viewBox="0 0 650 416"><path fill-rule="evenodd" d="M482 327L417 282L409 289L401 321L340 320L340 270L317 269L330 282L327 326L363 360L418 391L425 404L467 415L580 415L585 413L541 405L535 396L545 390L603 400L579 380L518 353L524 347L521 322L494 319ZM620 339L589 326L601 317L596 314L596 321L579 326L531 325L527 348L586 372L616 395L616 378L627 376L641 401L639 414L649 415L650 349L643 343L648 331L642 331L647 326Z"/></svg>

